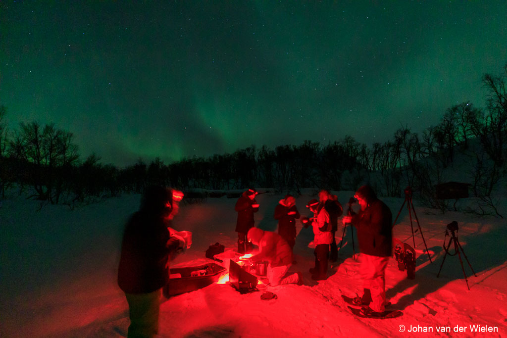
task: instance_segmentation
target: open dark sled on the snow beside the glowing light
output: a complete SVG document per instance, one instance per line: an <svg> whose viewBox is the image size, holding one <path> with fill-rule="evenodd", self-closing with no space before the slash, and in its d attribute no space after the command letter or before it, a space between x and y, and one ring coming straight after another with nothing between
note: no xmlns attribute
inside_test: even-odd
<svg viewBox="0 0 507 338"><path fill-rule="evenodd" d="M176 294L195 291L218 281L225 271L223 266L215 263L174 268L171 269L169 282L162 292L166 298L169 298Z"/></svg>

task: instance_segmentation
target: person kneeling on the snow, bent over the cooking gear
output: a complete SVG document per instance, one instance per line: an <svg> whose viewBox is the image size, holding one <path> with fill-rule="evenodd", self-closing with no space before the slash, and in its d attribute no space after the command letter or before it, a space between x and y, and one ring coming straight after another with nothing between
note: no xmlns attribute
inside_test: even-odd
<svg viewBox="0 0 507 338"><path fill-rule="evenodd" d="M250 259L253 262L267 261L269 263L266 277L271 286L302 283L301 273L285 276L292 265L293 254L291 247L280 235L259 228L251 228L248 230L247 238L249 242L259 247L259 253Z"/></svg>

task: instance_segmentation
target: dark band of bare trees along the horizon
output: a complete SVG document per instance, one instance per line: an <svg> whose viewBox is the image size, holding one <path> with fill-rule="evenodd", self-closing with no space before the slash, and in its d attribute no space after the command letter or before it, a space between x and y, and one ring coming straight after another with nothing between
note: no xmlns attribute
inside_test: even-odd
<svg viewBox="0 0 507 338"><path fill-rule="evenodd" d="M486 74L486 107L463 102L448 108L437 126L422 134L401 126L392 139L360 144L352 136L329 144L304 141L274 149L252 145L232 154L184 158L164 164L141 159L118 168L100 163L95 154L80 161L73 134L54 124L21 123L8 130L7 108L0 105L0 196L10 187L30 192L48 203L89 203L104 196L141 193L145 186L164 184L181 190L229 190L248 186L273 187L299 193L303 187L354 190L370 182L380 195L399 197L410 185L428 206L447 207L434 196L434 185L445 180L456 152L468 152L472 190L486 197L505 178L507 159L507 64L500 76ZM480 149L468 150L469 145ZM503 183L504 184L504 183Z"/></svg>

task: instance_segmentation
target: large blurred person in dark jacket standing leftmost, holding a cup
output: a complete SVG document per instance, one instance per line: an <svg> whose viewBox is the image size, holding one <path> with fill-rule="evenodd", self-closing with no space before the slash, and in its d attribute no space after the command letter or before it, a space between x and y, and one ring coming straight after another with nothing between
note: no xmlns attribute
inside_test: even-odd
<svg viewBox="0 0 507 338"><path fill-rule="evenodd" d="M129 337L157 334L160 294L169 280L169 259L192 243L189 232L176 233L167 228L182 198L181 192L161 186L149 187L139 211L125 226L118 285L125 292L129 305Z"/></svg>

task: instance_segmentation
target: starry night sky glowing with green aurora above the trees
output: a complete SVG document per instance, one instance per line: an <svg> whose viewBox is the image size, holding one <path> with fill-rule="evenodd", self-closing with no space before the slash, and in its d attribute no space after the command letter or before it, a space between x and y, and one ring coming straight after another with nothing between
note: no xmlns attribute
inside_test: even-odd
<svg viewBox="0 0 507 338"><path fill-rule="evenodd" d="M484 106L507 62L504 1L0 3L11 129L55 123L82 158L371 145Z"/></svg>

